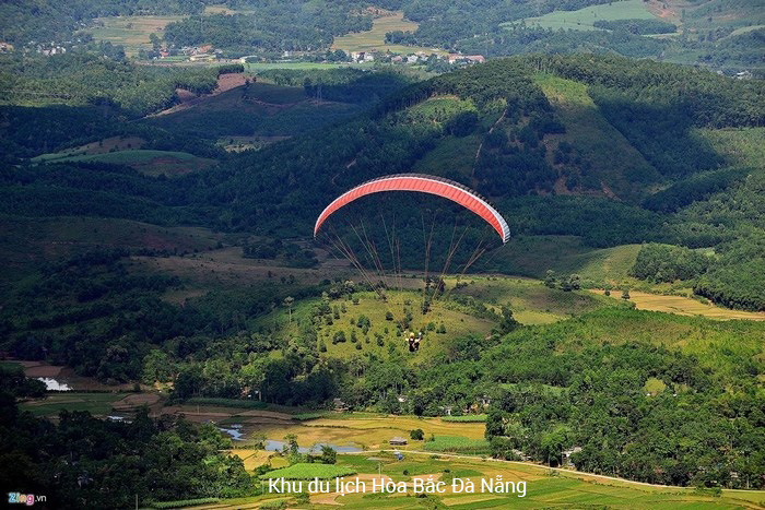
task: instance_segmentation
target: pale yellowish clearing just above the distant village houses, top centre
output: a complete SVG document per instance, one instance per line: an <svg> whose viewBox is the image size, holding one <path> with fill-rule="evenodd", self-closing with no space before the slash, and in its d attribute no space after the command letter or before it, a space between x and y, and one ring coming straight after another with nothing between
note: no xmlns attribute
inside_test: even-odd
<svg viewBox="0 0 765 510"><path fill-rule="evenodd" d="M384 15L373 20L372 29L336 37L332 49L342 49L345 52L390 51L393 54L414 54L424 51L426 54L446 55L446 51L439 48L389 45L385 43L385 34L387 32L414 32L417 29L417 26L420 26L417 23L404 20L401 11L384 11Z"/></svg>

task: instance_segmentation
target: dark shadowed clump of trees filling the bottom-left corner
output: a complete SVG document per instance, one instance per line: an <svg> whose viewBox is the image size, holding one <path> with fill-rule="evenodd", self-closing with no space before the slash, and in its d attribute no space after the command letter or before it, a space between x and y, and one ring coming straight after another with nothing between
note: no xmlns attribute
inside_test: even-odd
<svg viewBox="0 0 765 510"><path fill-rule="evenodd" d="M172 415L130 422L62 411L56 424L22 412L0 391L0 479L43 494L48 508L127 508L139 501L233 498L259 494L231 440L212 424Z"/></svg>

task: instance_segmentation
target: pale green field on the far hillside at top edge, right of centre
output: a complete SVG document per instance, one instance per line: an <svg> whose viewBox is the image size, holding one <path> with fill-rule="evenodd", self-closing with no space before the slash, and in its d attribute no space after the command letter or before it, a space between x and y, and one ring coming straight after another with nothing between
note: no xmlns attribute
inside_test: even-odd
<svg viewBox="0 0 765 510"><path fill-rule="evenodd" d="M622 0L608 4L591 5L578 11L553 11L539 17L527 17L527 25L542 28L558 28L574 31L598 31L592 24L597 21L616 20L654 20L656 16L648 12L643 0ZM516 23L516 22L513 22Z"/></svg>

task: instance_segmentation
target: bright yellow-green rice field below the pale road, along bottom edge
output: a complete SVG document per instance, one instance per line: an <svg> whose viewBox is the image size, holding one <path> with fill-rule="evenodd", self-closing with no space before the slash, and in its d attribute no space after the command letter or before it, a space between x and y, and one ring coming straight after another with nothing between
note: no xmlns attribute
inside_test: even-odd
<svg viewBox="0 0 765 510"><path fill-rule="evenodd" d="M298 466L298 467L295 467ZM309 475L307 470L325 470L317 464L295 464L274 471L279 475L286 470L297 475ZM304 467L305 466L305 467ZM761 508L765 503L765 491L722 490L719 495L699 491L694 488L651 486L605 476L589 475L567 470L550 470L541 465L494 460L470 459L459 455L433 455L404 452L399 461L390 452L369 452L338 455L338 464L330 466L356 473L365 483L365 491L360 494L321 493L310 494L310 506L344 506L354 509L409 509L409 508L614 508L614 509L675 509L675 508ZM482 490L482 479L513 482L514 493ZM474 491L455 490L455 477L471 481ZM307 478L306 478L307 479ZM373 481L403 482L404 494L373 494ZM442 481L445 491L427 497L417 496L413 490L415 479ZM521 484L522 483L522 484ZM459 486L459 485L457 485ZM330 485L331 490L334 484ZM289 507L297 502L294 495L266 495L255 498L221 500L214 508L251 508L266 501L285 500ZM304 505L305 507L305 505ZM201 507L201 508L213 508Z"/></svg>

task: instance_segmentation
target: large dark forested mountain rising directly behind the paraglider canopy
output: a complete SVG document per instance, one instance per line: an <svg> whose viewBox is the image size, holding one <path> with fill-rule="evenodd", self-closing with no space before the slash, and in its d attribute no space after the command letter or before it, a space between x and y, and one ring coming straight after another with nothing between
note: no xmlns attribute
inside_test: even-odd
<svg viewBox="0 0 765 510"><path fill-rule="evenodd" d="M168 74L156 83L189 80L184 76ZM575 94L574 85L584 88ZM311 86L306 91L315 92ZM3 212L80 214L84 204L71 202L71 194L60 195L62 190L97 190L106 193L105 200L110 195L122 204L108 207L111 216L164 217L290 237L308 235L323 204L352 185L426 169L495 200L514 232L577 235L598 247L642 241L715 247L725 258L758 242L757 202L726 221L717 220L728 214L725 210L713 218L703 204L755 192L763 176L761 168L741 168L730 155L715 151L704 130L762 127L764 91L757 81L616 57L495 60L410 85L366 115L231 158L215 173L157 182L84 165L72 170L58 165L8 169ZM117 90L114 100L119 94ZM570 116L570 108L582 107L578 102L590 104L597 117ZM131 129L138 132L143 123ZM56 132L56 124L46 129ZM607 135L607 129L643 163L635 166L634 157L616 166L609 163L603 151L611 147L592 142ZM462 158L438 159L456 145L472 149ZM157 206L174 212L155 216ZM89 214L106 211L93 201L87 207ZM415 251L404 257L413 259ZM710 269L705 278L726 273L722 287L732 287L730 271ZM718 284L705 282L698 289L717 301L762 308L756 292L739 301Z"/></svg>

